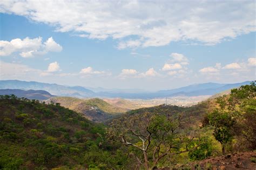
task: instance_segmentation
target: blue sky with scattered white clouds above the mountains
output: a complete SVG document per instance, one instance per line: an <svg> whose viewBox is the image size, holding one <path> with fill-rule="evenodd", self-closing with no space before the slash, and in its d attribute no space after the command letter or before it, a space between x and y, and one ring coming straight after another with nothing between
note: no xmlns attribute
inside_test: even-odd
<svg viewBox="0 0 256 170"><path fill-rule="evenodd" d="M0 2L0 79L108 89L255 80L255 1Z"/></svg>

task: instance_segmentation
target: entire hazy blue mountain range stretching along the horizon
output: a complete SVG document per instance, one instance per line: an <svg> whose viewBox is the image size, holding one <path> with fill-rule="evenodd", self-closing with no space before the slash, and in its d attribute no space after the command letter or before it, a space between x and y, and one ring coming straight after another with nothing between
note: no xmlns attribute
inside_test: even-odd
<svg viewBox="0 0 256 170"><path fill-rule="evenodd" d="M157 92L127 92L127 90L109 90L96 92L82 86L64 86L58 84L39 83L36 81L0 80L0 89L21 89L21 90L45 90L55 96L69 97L106 97L106 98L130 98L130 99L151 99L174 96L203 96L214 95L226 90L250 84L251 81L244 81L235 84L203 83L192 84L178 89L161 90Z"/></svg>

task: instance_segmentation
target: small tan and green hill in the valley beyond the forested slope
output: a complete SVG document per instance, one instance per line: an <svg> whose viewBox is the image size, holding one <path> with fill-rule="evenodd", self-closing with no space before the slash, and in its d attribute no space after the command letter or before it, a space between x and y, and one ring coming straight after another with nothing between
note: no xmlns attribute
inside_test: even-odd
<svg viewBox="0 0 256 170"><path fill-rule="evenodd" d="M46 102L59 103L61 106L82 113L87 119L96 122L103 122L112 118L114 115L127 111L125 108L112 106L98 98L78 99L72 97L53 97Z"/></svg>

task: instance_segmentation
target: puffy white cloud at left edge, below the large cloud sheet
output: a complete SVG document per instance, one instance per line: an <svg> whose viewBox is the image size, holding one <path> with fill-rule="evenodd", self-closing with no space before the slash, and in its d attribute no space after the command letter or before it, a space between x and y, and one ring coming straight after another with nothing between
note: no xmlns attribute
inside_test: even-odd
<svg viewBox="0 0 256 170"><path fill-rule="evenodd" d="M14 52L19 52L19 55L24 58L37 55L45 55L46 53L60 52L62 46L57 44L52 37L42 43L42 37L30 39L29 37L22 39L12 39L10 42L0 40L0 56L9 56Z"/></svg>

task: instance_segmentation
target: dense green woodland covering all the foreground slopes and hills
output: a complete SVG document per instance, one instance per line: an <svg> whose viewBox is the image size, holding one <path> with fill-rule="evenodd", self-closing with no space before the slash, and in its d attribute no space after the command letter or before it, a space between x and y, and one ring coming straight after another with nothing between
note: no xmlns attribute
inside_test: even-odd
<svg viewBox="0 0 256 170"><path fill-rule="evenodd" d="M192 107L160 105L93 123L57 104L1 96L0 169L200 169L256 149L256 87ZM253 160L252 160L253 161Z"/></svg>

